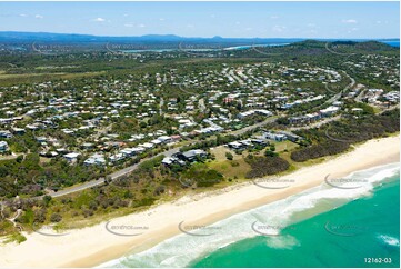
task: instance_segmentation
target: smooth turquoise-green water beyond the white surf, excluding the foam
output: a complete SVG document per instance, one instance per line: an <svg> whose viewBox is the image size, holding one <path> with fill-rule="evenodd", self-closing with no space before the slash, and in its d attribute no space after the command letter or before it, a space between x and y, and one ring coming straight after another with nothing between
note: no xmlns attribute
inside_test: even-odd
<svg viewBox="0 0 401 269"><path fill-rule="evenodd" d="M220 249L192 267L395 267L400 265L399 176L372 197ZM329 225L327 225L329 222ZM331 233L333 232L333 233ZM364 258L391 258L367 263Z"/></svg>

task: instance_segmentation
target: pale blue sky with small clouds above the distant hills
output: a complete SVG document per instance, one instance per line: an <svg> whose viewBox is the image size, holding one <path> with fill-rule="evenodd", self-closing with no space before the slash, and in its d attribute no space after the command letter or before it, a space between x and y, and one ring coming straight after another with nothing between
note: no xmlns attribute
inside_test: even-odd
<svg viewBox="0 0 401 269"><path fill-rule="evenodd" d="M0 31L223 38L399 38L393 2L0 2Z"/></svg>

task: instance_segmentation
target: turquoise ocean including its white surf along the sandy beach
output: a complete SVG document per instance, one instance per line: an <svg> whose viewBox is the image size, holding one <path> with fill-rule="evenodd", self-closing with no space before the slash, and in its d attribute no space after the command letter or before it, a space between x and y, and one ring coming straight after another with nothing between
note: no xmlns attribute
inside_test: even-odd
<svg viewBox="0 0 401 269"><path fill-rule="evenodd" d="M100 267L398 268L399 166L357 171L347 177L360 182L353 188L323 183Z"/></svg>

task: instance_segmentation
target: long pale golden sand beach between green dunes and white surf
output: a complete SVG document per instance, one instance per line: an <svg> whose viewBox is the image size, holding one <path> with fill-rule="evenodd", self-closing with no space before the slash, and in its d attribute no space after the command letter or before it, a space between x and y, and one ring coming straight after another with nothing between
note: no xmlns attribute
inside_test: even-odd
<svg viewBox="0 0 401 269"><path fill-rule="evenodd" d="M182 221L194 226L210 225L321 185L329 173L333 178L344 177L399 160L398 136L370 140L345 155L284 176L285 179L294 179L287 188L267 189L250 182L223 191L187 196L140 213L61 236L24 235L28 240L21 245L0 246L0 267L93 267L179 235ZM126 228L119 228L121 226Z"/></svg>

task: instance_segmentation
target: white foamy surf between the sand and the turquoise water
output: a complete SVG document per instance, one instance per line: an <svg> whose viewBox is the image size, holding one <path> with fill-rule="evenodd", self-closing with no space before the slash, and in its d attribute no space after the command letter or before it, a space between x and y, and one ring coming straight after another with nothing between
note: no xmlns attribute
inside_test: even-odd
<svg viewBox="0 0 401 269"><path fill-rule="evenodd" d="M273 248L291 248L297 246L297 241L294 238L288 237L288 235L281 237L280 232L283 229L354 199L371 195L377 186L399 175L399 168L400 163L395 162L355 171L344 178L365 179L361 188L344 190L322 183L285 199L218 221L209 226L218 231L209 237L182 233L169 238L146 251L102 263L99 268L186 267L219 248L263 235L268 236L268 243ZM254 229L255 222L259 223L257 225L259 231ZM394 240L388 237L381 237L381 239L388 243L394 243Z"/></svg>

